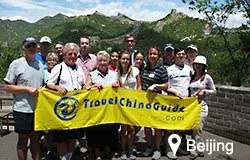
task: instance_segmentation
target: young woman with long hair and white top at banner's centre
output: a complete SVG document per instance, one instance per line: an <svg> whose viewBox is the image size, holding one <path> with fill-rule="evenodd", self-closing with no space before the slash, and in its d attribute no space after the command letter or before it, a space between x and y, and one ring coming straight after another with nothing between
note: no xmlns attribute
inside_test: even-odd
<svg viewBox="0 0 250 160"><path fill-rule="evenodd" d="M119 62L118 75L119 75L120 86L127 89L141 90L140 71L137 67L133 67L131 65L130 53L128 51L121 52L119 59L120 62ZM132 151L134 136L135 136L135 126L126 124L121 125L122 160L127 159L126 155L127 151L129 159L131 160L136 159L136 156L133 154Z"/></svg>

